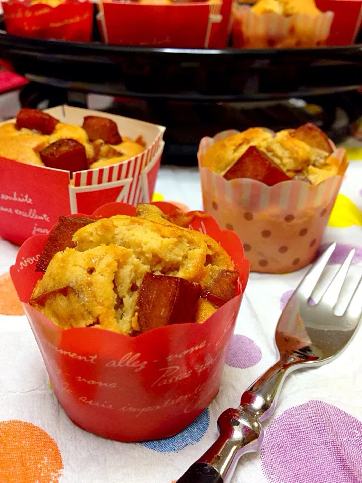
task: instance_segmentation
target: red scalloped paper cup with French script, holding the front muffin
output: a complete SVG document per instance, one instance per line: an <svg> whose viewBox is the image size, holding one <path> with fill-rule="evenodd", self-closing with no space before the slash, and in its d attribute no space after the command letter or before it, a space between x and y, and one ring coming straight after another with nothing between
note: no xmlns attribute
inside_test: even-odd
<svg viewBox="0 0 362 483"><path fill-rule="evenodd" d="M164 202L154 204L166 214L175 209ZM135 208L110 203L93 216L116 214L134 215ZM56 326L27 303L42 275L35 265L47 235L35 235L20 248L10 269L13 283L55 395L82 429L118 441L165 438L182 431L216 396L249 262L236 234L222 231L211 216L195 217L190 226L212 236L229 253L240 271L237 295L203 324L185 321L138 337Z"/></svg>

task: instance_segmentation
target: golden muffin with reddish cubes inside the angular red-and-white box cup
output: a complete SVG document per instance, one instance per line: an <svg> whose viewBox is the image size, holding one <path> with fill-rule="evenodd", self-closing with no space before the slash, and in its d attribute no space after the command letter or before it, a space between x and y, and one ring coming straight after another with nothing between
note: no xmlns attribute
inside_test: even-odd
<svg viewBox="0 0 362 483"><path fill-rule="evenodd" d="M116 123L104 117L86 116L83 126L75 126L24 108L15 123L0 125L0 156L71 174L120 163L144 150L141 137L121 137Z"/></svg>

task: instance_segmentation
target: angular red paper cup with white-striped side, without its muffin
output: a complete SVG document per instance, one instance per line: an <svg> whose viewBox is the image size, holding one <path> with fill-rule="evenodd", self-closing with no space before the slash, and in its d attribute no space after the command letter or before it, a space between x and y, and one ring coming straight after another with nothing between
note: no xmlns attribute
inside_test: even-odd
<svg viewBox="0 0 362 483"><path fill-rule="evenodd" d="M121 163L75 172L73 179L68 171L0 157L2 238L20 245L32 235L48 234L61 215L91 214L113 202L135 206L151 201L164 147L163 126L69 106L46 112L76 126L90 115L112 119L121 135L142 136L145 150Z"/></svg>

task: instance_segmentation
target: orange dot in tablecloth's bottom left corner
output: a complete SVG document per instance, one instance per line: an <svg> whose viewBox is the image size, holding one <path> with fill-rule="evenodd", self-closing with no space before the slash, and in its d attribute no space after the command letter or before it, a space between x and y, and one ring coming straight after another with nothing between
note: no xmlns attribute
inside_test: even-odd
<svg viewBox="0 0 362 483"><path fill-rule="evenodd" d="M32 423L0 421L0 481L58 483L63 461L58 445Z"/></svg>

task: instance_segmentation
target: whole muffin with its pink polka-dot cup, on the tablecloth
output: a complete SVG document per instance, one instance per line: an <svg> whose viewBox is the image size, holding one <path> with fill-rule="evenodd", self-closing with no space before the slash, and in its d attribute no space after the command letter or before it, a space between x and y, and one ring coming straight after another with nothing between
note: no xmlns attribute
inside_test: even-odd
<svg viewBox="0 0 362 483"><path fill-rule="evenodd" d="M200 141L204 209L240 237L253 272L288 273L315 257L348 161L314 124L224 131Z"/></svg>

